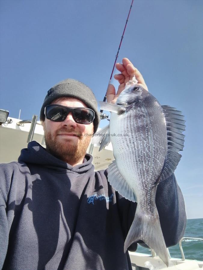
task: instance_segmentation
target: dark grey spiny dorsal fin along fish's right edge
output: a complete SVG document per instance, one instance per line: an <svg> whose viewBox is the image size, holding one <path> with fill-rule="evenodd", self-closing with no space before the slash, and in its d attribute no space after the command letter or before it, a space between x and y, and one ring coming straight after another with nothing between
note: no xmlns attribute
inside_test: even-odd
<svg viewBox="0 0 203 270"><path fill-rule="evenodd" d="M185 135L182 134L185 130L185 120L182 112L168 105L161 107L166 120L168 152L160 181L170 177L176 169L182 157L178 152L183 150L185 137Z"/></svg>

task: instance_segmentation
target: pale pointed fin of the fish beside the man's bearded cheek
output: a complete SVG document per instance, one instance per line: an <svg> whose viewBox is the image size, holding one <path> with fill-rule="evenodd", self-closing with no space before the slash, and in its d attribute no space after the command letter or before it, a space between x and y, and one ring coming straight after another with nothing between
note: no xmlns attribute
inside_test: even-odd
<svg viewBox="0 0 203 270"><path fill-rule="evenodd" d="M110 143L109 125L105 126L94 134L92 144L94 143L100 143L99 151Z"/></svg>

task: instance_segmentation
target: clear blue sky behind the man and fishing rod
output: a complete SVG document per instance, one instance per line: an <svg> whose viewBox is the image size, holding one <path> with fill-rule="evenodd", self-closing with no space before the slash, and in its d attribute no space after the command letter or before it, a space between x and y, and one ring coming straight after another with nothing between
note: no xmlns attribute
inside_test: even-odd
<svg viewBox="0 0 203 270"><path fill-rule="evenodd" d="M130 4L1 0L1 108L15 118L21 109L21 119L32 119L48 89L66 78L84 82L103 100ZM134 63L160 104L185 115L175 174L188 218L203 217L202 14L203 1L134 0L118 57Z"/></svg>

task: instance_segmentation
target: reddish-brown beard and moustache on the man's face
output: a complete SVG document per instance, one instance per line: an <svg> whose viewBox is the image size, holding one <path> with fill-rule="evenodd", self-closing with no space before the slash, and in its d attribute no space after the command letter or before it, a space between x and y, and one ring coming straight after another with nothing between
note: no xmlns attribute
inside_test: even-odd
<svg viewBox="0 0 203 270"><path fill-rule="evenodd" d="M57 134L62 132L77 134L78 142L74 143L72 140L64 140L59 142L56 140ZM92 132L93 133L93 132ZM59 131L51 135L50 132L45 130L45 142L47 151L56 158L68 163L77 164L81 159L85 157L87 148L90 144L91 136L83 136L75 129L60 129Z"/></svg>

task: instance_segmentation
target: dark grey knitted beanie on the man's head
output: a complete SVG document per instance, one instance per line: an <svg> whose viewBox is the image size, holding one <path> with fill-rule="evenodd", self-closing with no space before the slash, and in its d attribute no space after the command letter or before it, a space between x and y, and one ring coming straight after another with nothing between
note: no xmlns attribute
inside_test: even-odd
<svg viewBox="0 0 203 270"><path fill-rule="evenodd" d="M88 108L94 110L95 118L93 124L95 133L100 122L100 114L97 109L96 98L92 90L87 85L74 79L63 80L49 89L40 111L40 121L45 120L45 106L51 104L52 101L61 97L77 98L83 101Z"/></svg>

